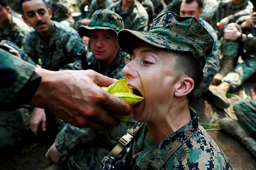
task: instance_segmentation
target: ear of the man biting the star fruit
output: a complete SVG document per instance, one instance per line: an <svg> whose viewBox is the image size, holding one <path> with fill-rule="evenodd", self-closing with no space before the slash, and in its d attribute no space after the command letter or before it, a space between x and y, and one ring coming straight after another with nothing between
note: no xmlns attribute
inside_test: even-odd
<svg viewBox="0 0 256 170"><path fill-rule="evenodd" d="M194 88L194 81L190 77L181 78L176 84L177 88L174 90L175 97L183 97L189 94Z"/></svg>

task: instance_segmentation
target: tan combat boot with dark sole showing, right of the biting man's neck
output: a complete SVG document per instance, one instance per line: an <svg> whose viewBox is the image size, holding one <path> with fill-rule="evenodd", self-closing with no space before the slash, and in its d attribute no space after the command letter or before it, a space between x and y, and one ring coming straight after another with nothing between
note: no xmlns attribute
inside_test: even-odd
<svg viewBox="0 0 256 170"><path fill-rule="evenodd" d="M224 109L229 106L226 96L229 88L230 84L227 82L222 82L218 86L209 86L210 98L217 108Z"/></svg>

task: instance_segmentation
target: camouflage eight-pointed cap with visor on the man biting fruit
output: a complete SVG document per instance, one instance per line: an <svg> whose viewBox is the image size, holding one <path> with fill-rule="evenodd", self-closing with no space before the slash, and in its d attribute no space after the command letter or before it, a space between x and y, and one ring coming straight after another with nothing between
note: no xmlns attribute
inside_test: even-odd
<svg viewBox="0 0 256 170"><path fill-rule="evenodd" d="M154 19L148 32L122 29L117 34L118 45L128 54L140 41L159 48L191 52L204 68L214 39L195 17L180 17L168 11Z"/></svg>

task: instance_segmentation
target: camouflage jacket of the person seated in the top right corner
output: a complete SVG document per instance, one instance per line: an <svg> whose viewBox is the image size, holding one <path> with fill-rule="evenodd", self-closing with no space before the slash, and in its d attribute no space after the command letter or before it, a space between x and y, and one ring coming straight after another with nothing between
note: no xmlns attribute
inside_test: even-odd
<svg viewBox="0 0 256 170"><path fill-rule="evenodd" d="M248 0L243 0L238 4L234 4L233 0L221 1L219 20L228 17L229 23L236 22L239 17L249 15L253 12L253 4Z"/></svg>

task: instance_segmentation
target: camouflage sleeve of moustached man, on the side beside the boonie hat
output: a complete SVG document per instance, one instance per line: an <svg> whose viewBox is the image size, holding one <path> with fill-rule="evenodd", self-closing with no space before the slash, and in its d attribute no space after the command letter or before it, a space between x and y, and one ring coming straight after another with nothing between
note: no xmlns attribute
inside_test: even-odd
<svg viewBox="0 0 256 170"><path fill-rule="evenodd" d="M67 36L66 42L66 52L68 56L68 61L70 63L73 63L76 60L80 59L78 53L83 48L85 49L85 51L87 51L87 47L84 45L78 33L75 30L70 32ZM85 54L81 57L85 57Z"/></svg>

